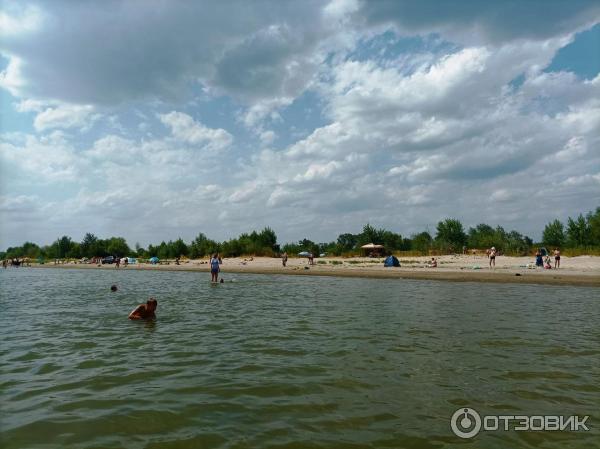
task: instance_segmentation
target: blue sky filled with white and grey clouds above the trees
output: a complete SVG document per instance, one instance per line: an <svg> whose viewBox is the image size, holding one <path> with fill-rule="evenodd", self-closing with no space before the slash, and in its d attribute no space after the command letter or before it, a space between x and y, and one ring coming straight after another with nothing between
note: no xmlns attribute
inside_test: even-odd
<svg viewBox="0 0 600 449"><path fill-rule="evenodd" d="M597 1L0 2L0 249L600 206Z"/></svg>

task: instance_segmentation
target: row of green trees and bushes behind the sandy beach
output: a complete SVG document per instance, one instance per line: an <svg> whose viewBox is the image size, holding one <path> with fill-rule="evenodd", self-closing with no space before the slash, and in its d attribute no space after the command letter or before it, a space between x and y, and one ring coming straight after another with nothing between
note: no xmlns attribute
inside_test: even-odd
<svg viewBox="0 0 600 449"><path fill-rule="evenodd" d="M148 245L143 248L135 244L129 247L123 237L101 239L94 234L85 234L81 242L71 237L63 236L52 244L39 246L25 242L18 247L8 248L0 252L0 259L28 257L30 259L80 259L83 257L105 257L108 255L123 257L149 258L157 256L160 259L175 259L189 257L197 259L218 252L223 257L238 257L245 255L278 256L282 252L289 255L301 251L309 251L315 255L356 255L360 247L367 243L383 245L388 252L413 251L419 254L462 252L463 248L486 249L495 246L497 250L507 255L527 255L535 248L545 245L561 249L573 248L580 251L600 250L600 207L585 216L569 217L566 226L559 220L548 223L542 233L541 242L533 242L531 238L517 231L506 231L502 226L492 227L482 223L465 231L462 223L455 218L447 218L436 226L435 235L428 231L403 237L399 233L387 229L376 229L366 224L358 234L340 234L335 241L316 243L304 238L295 243L280 246L273 229L266 227L261 231L243 233L237 238L218 242L208 238L204 233L189 243L181 238L162 241L160 244Z"/></svg>

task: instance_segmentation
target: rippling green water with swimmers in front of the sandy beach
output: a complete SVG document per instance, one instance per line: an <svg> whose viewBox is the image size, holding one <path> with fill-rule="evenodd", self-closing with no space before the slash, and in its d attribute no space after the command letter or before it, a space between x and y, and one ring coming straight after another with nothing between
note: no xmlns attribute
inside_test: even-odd
<svg viewBox="0 0 600 449"><path fill-rule="evenodd" d="M600 290L19 268L0 272L5 448L590 448ZM111 293L112 283L119 285ZM155 322L127 314L150 295ZM589 415L588 432L450 417Z"/></svg>

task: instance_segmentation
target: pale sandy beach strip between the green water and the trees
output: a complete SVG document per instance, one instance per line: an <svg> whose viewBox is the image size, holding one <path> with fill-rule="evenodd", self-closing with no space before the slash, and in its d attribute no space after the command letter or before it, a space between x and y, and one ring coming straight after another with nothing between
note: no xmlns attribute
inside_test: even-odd
<svg viewBox="0 0 600 449"><path fill-rule="evenodd" d="M308 265L307 259L290 258L283 267L281 259L268 257L225 258L222 276L230 273L289 274L305 276L345 276L392 279L430 279L458 282L498 282L524 284L579 285L600 287L600 257L562 257L559 270L544 270L535 267L533 257L496 258L496 268L488 268L488 260L482 256L451 255L438 257L438 268L425 268L429 257L409 257L400 259L401 267L385 268L383 258L339 258L315 259ZM177 270L208 272L207 259L186 260L181 265L163 263L160 265L130 265L125 270ZM554 263L554 261L553 261ZM89 264L44 264L32 266L40 268L82 268L115 270L114 265Z"/></svg>

